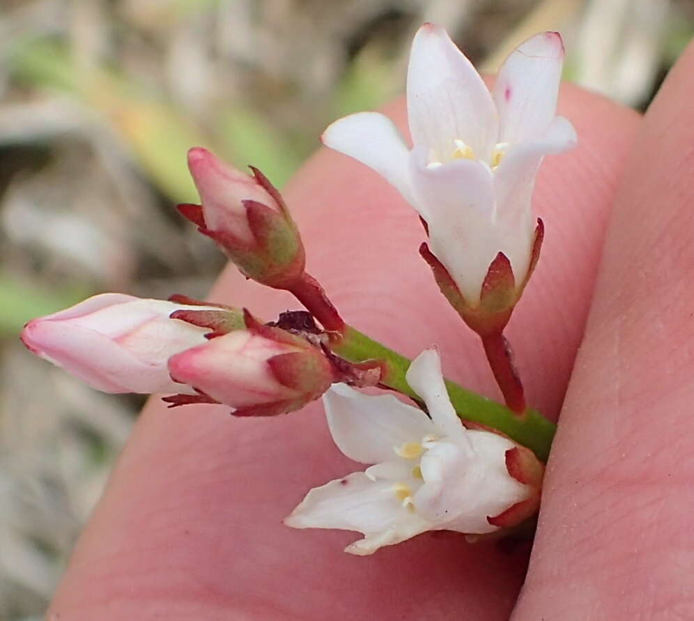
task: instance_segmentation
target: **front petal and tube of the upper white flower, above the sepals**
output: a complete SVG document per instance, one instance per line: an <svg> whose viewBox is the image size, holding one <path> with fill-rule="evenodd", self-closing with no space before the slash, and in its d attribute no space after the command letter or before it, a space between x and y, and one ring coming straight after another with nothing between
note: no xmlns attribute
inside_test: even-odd
<svg viewBox="0 0 694 621"><path fill-rule="evenodd" d="M474 305L487 270L502 251L493 224L493 173L474 160L454 160L435 168L412 153L412 190L419 215L429 225L429 247Z"/></svg>

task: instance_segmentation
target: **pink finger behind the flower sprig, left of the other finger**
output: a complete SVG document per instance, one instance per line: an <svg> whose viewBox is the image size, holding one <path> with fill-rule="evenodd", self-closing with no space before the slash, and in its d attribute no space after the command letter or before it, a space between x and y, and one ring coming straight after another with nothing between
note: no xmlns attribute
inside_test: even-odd
<svg viewBox="0 0 694 621"><path fill-rule="evenodd" d="M392 108L400 121L402 110ZM564 369L583 330L599 252L599 240L586 245L573 231L601 236L612 188L596 180L615 176L612 169L624 160L638 123L637 115L571 87L562 93L560 114L576 121L583 155L548 158L545 164L538 188L560 189L562 201L552 201L549 209L548 199L557 194L536 194L551 232L513 320L518 359L534 371L527 376L529 392L548 415L562 399ZM585 170L593 150L603 158ZM584 174L585 187L566 187L566 177ZM286 197L302 230L309 273L347 321L409 355L438 342L447 374L495 394L479 344L451 309L444 310L445 300L417 256L424 233L394 190L356 162L321 151ZM342 234L326 240L326 224L336 218L346 222ZM582 261L560 272L562 252L580 254ZM562 279L571 279L571 288L560 296ZM259 316L297 307L287 294L245 282L232 269L222 282L218 301L242 303ZM351 290L360 297L346 297L344 283L354 283ZM392 305L393 299L400 305ZM371 313L377 300L387 309L383 316ZM560 307L566 323L555 312ZM562 365L545 360L542 351L550 348L563 356ZM253 602L262 601L272 615L278 611L272 617L278 619L284 613L288 619L322 620L326 611L353 621L453 621L461 611L467 621L509 617L523 578L523 554L502 553L490 542L471 546L463 537L421 536L369 558L351 558L341 548L354 534L281 526L279 520L310 486L353 470L331 445L319 406L272 420L235 420L221 406L162 411L153 401L137 421L51 611L70 621L233 620L253 618ZM191 536L199 537L194 545L187 543ZM146 554L140 553L143 542ZM199 608L193 611L196 598Z"/></svg>

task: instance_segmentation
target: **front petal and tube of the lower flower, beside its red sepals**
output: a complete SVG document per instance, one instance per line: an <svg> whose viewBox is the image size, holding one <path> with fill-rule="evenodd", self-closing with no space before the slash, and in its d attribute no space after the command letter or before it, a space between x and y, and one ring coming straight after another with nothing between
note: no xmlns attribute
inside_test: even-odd
<svg viewBox="0 0 694 621"><path fill-rule="evenodd" d="M532 489L506 468L510 440L490 431L468 431L472 445L435 443L419 464L424 485L415 493L417 513L434 528L467 533L497 530L488 521L525 500Z"/></svg>

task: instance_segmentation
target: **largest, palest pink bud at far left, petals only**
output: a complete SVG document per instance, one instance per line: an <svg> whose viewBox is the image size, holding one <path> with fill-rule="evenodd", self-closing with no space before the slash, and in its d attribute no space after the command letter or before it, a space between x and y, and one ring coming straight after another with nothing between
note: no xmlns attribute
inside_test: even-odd
<svg viewBox="0 0 694 621"><path fill-rule="evenodd" d="M103 293L29 321L22 341L41 358L104 392L193 392L171 381L169 356L206 342L206 328L169 315L204 309Z"/></svg>

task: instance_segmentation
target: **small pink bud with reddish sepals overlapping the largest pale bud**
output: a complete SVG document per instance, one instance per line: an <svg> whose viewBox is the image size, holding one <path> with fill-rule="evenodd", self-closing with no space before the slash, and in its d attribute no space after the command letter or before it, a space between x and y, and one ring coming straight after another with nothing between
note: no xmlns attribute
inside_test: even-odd
<svg viewBox="0 0 694 621"><path fill-rule="evenodd" d="M294 411L330 388L332 367L306 340L279 330L235 330L169 359L171 377L236 415Z"/></svg>

